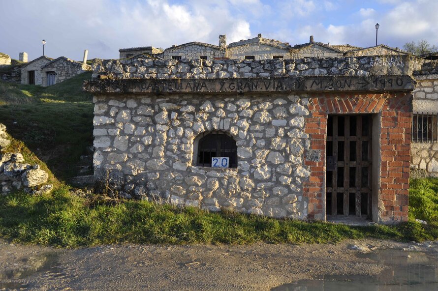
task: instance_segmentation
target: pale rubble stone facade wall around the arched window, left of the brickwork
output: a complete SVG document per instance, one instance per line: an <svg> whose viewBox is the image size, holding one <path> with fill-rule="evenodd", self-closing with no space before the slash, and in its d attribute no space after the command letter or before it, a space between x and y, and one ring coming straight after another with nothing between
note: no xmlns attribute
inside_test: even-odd
<svg viewBox="0 0 438 291"><path fill-rule="evenodd" d="M115 95L94 97L94 173L122 173L123 195L276 217L307 217L304 96ZM193 165L195 138L229 133L237 169Z"/></svg>

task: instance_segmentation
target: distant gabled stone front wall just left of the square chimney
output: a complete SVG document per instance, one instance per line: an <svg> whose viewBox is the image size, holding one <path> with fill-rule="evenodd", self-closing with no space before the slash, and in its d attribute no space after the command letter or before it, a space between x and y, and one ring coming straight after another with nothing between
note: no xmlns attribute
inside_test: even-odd
<svg viewBox="0 0 438 291"><path fill-rule="evenodd" d="M199 59L199 57L205 56L207 59L224 58L225 50L216 48L215 46L205 46L200 44L181 45L176 47L170 47L164 50L158 57L164 59L171 59L172 56L180 56L181 58Z"/></svg>

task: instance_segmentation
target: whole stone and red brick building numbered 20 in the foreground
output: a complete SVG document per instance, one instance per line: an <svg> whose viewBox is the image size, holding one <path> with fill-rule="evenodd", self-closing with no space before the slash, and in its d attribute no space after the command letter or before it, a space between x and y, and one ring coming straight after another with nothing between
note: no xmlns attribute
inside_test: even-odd
<svg viewBox="0 0 438 291"><path fill-rule="evenodd" d="M406 221L414 65L401 58L97 61L95 178L212 211Z"/></svg>

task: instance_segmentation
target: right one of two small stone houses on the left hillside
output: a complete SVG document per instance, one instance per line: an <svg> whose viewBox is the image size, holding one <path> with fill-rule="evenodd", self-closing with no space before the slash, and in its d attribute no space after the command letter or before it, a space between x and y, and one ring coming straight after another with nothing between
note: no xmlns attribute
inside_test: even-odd
<svg viewBox="0 0 438 291"><path fill-rule="evenodd" d="M59 57L41 67L41 85L55 85L90 70L86 63Z"/></svg>

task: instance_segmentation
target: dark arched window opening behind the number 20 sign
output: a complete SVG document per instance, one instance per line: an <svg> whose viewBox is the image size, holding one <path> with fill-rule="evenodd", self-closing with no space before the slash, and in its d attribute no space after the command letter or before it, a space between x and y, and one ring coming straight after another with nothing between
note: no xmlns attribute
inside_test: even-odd
<svg viewBox="0 0 438 291"><path fill-rule="evenodd" d="M212 167L212 158L228 157L229 168L237 168L237 146L231 136L222 131L204 132L197 140L196 166Z"/></svg>

